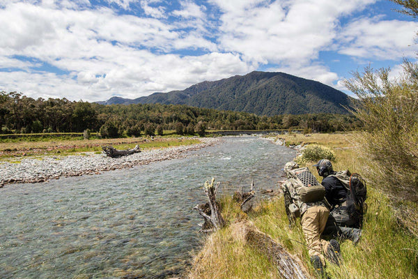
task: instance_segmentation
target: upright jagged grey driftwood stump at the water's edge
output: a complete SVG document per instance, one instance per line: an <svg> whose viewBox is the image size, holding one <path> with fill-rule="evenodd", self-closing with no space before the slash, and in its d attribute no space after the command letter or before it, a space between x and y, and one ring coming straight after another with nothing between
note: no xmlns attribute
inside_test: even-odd
<svg viewBox="0 0 418 279"><path fill-rule="evenodd" d="M216 201L217 188L219 187L219 182L215 183L215 179L209 183L205 182L205 193L209 199L209 202L206 204L198 204L194 206L193 209L199 212L199 214L205 220L203 223L201 232L214 232L217 229L224 227L225 221L221 215L221 209L219 203Z"/></svg>

